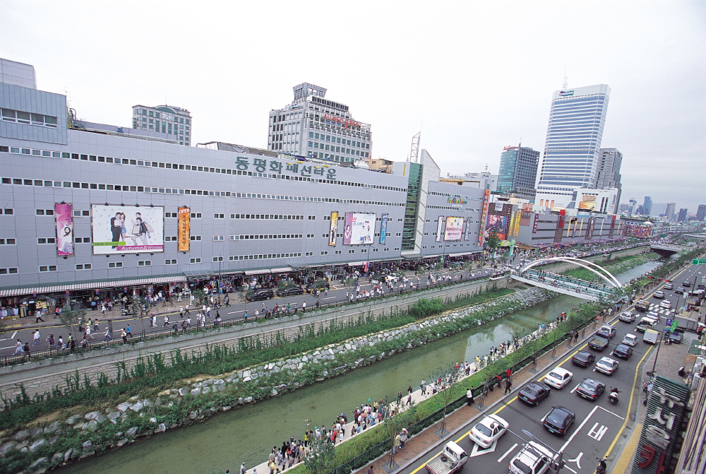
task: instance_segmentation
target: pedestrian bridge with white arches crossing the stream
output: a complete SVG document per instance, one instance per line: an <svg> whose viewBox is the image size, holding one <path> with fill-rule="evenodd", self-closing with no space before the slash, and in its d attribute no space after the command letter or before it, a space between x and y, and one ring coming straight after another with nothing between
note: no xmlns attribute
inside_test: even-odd
<svg viewBox="0 0 706 474"><path fill-rule="evenodd" d="M576 266L585 268L592 273L598 275L606 283L595 283L580 278L574 278L551 271L544 271L539 268L534 268L546 263L571 263ZM527 283L528 285L546 288L554 292L562 293L563 295L571 295L582 298L584 300L598 301L601 297L609 297L611 290L614 288L622 288L623 285L618 279L602 266L592 261L583 259L575 259L568 256L555 256L547 259L539 259L528 263L520 271L515 271L510 275L514 280Z"/></svg>

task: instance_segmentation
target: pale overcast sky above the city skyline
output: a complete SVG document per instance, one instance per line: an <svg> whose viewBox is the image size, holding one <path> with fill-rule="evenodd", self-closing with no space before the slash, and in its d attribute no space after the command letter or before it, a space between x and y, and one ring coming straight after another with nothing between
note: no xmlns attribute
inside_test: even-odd
<svg viewBox="0 0 706 474"><path fill-rule="evenodd" d="M192 143L265 148L268 112L309 82L372 125L373 158L421 130L442 174L543 150L551 94L611 87L602 146L623 203L706 203L704 1L0 0L0 57L35 66L78 117L131 126L184 107Z"/></svg>

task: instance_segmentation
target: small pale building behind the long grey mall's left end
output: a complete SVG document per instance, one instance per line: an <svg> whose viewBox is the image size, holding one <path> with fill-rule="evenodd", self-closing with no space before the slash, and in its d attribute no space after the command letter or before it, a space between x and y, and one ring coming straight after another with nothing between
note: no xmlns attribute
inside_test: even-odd
<svg viewBox="0 0 706 474"><path fill-rule="evenodd" d="M133 129L151 130L169 135L179 145L191 145L191 114L173 105L133 105Z"/></svg>

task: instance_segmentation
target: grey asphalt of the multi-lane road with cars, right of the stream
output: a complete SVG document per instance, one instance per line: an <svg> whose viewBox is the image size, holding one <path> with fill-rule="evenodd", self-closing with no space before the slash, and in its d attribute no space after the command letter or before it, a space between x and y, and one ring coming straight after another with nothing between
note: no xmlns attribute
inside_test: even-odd
<svg viewBox="0 0 706 474"><path fill-rule="evenodd" d="M689 266L678 273L674 278L674 288L681 286L676 285L676 283L690 280L692 283L691 289L693 289L695 278L700 283L704 273L702 268ZM655 290L662 290L660 287L662 285L659 285ZM662 291L666 293L666 290ZM650 297L650 302L654 305L659 305L662 300L655 299L652 294L653 292L650 292L645 297ZM661 323L664 324L666 324L666 319L674 314L676 303L674 292L670 291L669 295L665 296L665 299L669 298L674 300L672 301L672 311L667 311L664 308L658 309L662 317ZM683 297L681 301L683 302ZM555 365L537 374L535 380L541 381L554 367L563 367L573 373L573 378L563 389L551 389L550 395L539 402L539 405L530 406L517 398L517 392L522 389L522 386L515 387L513 393L508 396L508 400L503 405L479 415L474 420L470 420L465 427L462 427L458 431L459 435L453 440L465 449L469 455L469 461L467 466L465 466L467 472L507 473L510 461L522 449L523 443L531 440L522 431L526 430L541 440L542 443L551 446L556 452L561 451L563 453L563 461L566 462L566 466L562 472L573 474L594 473L598 460L611 453L611 450L614 449L623 429L630 422L631 411L634 416L634 405L642 399L642 384L638 380L641 374L640 366L652 354L655 346L642 342L642 333L635 331L635 325L639 321L640 316L642 316L642 313L637 312L637 314L638 319L633 323L628 324L617 320L612 323L617 330L616 336L611 339L609 347L602 352L592 350L586 344L578 345ZM664 326L661 327L664 328ZM612 350L621 343L626 333L636 334L639 338L638 343L633 348L633 355L627 360L611 356ZM689 333L687 335L692 336ZM685 340L685 343L687 342L688 340ZM606 375L601 372L594 372L593 365L586 368L574 365L571 362L571 358L580 350L592 352L596 356L596 361L604 356L618 360L618 370L613 375ZM606 391L599 396L597 401L589 401L576 393L576 387L586 378L597 379L606 385ZM622 391L617 404L611 404L608 400L609 389L612 386L616 386ZM553 406L559 405L573 410L576 415L575 422L563 437L552 434L542 424L542 418L549 413ZM482 417L489 413L495 413L508 421L509 432L506 432L488 449L481 449L480 446L469 439L468 433ZM441 451L445 441L440 442L438 446L433 446L428 455L419 458L418 461L404 468L401 471L402 474L415 474L419 471L426 472L424 470L426 461L429 461L430 458ZM613 453L611 456L614 457L615 454Z"/></svg>

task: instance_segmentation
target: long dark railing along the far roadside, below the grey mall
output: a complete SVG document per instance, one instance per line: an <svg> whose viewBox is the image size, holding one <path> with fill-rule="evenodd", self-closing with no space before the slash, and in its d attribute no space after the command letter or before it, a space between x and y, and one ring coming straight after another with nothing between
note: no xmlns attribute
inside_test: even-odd
<svg viewBox="0 0 706 474"><path fill-rule="evenodd" d="M247 319L245 319L244 316L238 316L234 318L229 318L229 319L223 319L220 324L215 323L214 321L208 321L205 323L203 326L196 326L196 324L192 324L192 326L189 326L188 328L181 328L181 326L177 326L176 329L174 329L173 326L171 326L173 323L170 322L170 327L168 329L161 329L157 331L152 331L150 333L142 332L138 333L137 335L129 336L128 337L128 344L135 344L135 343L141 343L141 342L149 342L150 340L158 340L158 339L164 339L167 337L178 337L184 334L193 334L193 333L203 333L203 336L208 336L207 333L212 331L213 329L217 328L231 328L234 326L241 326L246 323L253 323L257 321L270 321L272 319L280 319L282 317L287 317L287 316L292 316L294 314L299 314L299 312L314 312L314 311L321 311L323 309L331 309L331 308L337 308L337 307L343 307L343 306L352 306L354 304L361 304L361 303L368 303L368 302L377 302L381 300L385 300L389 297L396 297L399 295L405 295L408 293L417 293L417 292L425 292L426 290L437 290L437 289L443 289L443 288L448 288L456 285L460 285L462 283L469 283L469 282L477 282L479 280L486 280L488 279L488 276L478 276L474 278L468 278L467 280L461 280L457 282L450 282L450 283L437 283L436 285L429 285L424 288L417 288L414 290L402 290L400 292L395 292L395 293L387 293L383 297L369 297L366 300L354 300L354 301L340 301L340 302L330 302L330 303L323 303L319 304L318 307L316 307L315 304L312 304L311 307L307 307L306 310L301 309L299 307L294 307L292 308L289 312L287 312L287 309L279 309L277 312L270 312L270 315L265 317L265 314L258 314L258 316L252 315L248 316ZM195 314L197 313L196 311L194 312ZM156 320L156 319L155 319ZM181 320L180 320L181 321ZM125 345L121 338L112 338L111 340L98 340L100 336L96 334L96 338L92 339L89 341L88 345L86 347L83 347L80 343L80 341L76 341L76 345L73 348L70 347L65 347L65 348L56 348L56 347L50 347L47 349L40 349L40 350L31 350L30 346L30 353L21 353L17 355L4 355L0 356L0 367L7 366L7 365L18 365L22 364L24 362L36 362L39 360L44 360L44 359L49 359L52 357L64 357L67 355L80 355L80 354L85 354L87 352L91 352L94 350L103 350L103 349L108 349L108 348L117 348ZM42 345L44 342L42 343Z"/></svg>

